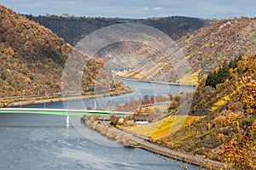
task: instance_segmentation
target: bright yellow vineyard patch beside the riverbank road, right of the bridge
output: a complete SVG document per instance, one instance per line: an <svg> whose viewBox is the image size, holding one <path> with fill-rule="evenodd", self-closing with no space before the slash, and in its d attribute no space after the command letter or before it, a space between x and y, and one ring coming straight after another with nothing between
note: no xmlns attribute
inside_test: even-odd
<svg viewBox="0 0 256 170"><path fill-rule="evenodd" d="M159 122L142 127L132 127L130 130L151 139L159 139L169 133L176 132L181 127L188 126L198 119L200 119L200 116L167 116Z"/></svg>

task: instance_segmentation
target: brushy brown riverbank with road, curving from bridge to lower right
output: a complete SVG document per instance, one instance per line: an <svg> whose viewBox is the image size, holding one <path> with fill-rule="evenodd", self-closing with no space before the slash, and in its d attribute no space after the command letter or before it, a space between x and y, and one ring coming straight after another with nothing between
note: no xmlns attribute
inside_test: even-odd
<svg viewBox="0 0 256 170"><path fill-rule="evenodd" d="M166 146L150 141L146 137L113 127L107 122L98 121L96 116L82 116L81 121L84 122L88 127L95 129L99 133L102 133L102 135L107 136L108 139L115 139L117 142L123 143L125 146L139 147L143 150L148 150L161 156L167 156L179 161L185 161L200 167L208 167L212 169L225 168L224 164L219 161L212 161L202 156L194 156L188 153L171 150Z"/></svg>

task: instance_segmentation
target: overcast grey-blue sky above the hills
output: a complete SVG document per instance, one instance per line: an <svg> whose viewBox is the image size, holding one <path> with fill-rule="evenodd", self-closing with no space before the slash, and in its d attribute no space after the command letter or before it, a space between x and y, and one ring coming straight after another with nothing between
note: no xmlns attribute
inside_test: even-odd
<svg viewBox="0 0 256 170"><path fill-rule="evenodd" d="M256 16L256 0L1 0L20 14L74 14L122 18L173 15L205 19Z"/></svg>

